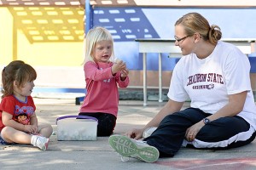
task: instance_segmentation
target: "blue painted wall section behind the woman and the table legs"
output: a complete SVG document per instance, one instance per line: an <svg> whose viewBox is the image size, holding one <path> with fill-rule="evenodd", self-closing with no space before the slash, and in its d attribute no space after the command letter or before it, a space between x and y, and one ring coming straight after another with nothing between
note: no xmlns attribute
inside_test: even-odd
<svg viewBox="0 0 256 170"><path fill-rule="evenodd" d="M174 24L183 14L198 12L210 25L220 26L224 38L256 38L256 8L94 8L92 26L104 26L113 35L115 54L130 70L143 69L136 38L173 38ZM162 54L163 71L172 71L175 59ZM158 54L148 54L148 70L158 70Z"/></svg>

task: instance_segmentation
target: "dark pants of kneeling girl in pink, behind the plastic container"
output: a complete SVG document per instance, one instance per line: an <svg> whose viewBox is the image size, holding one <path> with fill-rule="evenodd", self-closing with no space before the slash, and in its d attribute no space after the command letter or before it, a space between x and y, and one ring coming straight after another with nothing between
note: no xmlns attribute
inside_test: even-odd
<svg viewBox="0 0 256 170"><path fill-rule="evenodd" d="M79 113L79 116L92 116L98 119L97 136L110 136L116 124L116 116L109 113Z"/></svg>

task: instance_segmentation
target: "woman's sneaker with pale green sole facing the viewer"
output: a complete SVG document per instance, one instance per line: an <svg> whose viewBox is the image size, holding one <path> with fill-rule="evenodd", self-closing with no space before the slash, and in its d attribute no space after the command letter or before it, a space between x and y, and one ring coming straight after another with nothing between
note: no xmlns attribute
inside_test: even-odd
<svg viewBox="0 0 256 170"><path fill-rule="evenodd" d="M159 158L159 151L143 140L130 139L122 135L112 135L108 139L113 150L121 156L133 157L146 162L154 162Z"/></svg>

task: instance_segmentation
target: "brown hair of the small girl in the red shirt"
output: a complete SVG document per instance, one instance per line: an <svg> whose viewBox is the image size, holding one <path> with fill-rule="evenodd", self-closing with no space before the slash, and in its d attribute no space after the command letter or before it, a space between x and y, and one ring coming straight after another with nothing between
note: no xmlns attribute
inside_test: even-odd
<svg viewBox="0 0 256 170"><path fill-rule="evenodd" d="M31 65L24 61L15 60L9 63L2 71L2 98L14 94L14 82L18 87L22 87L26 82L36 80L37 72Z"/></svg>

